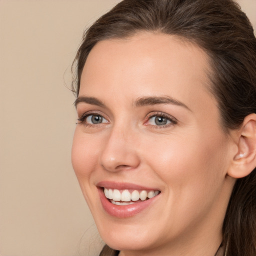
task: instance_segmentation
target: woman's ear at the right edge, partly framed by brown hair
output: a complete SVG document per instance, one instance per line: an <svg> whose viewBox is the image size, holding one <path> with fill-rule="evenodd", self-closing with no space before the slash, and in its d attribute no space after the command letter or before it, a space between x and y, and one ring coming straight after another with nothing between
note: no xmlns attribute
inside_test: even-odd
<svg viewBox="0 0 256 256"><path fill-rule="evenodd" d="M256 114L247 115L236 133L237 150L227 174L234 178L247 176L256 166Z"/></svg>

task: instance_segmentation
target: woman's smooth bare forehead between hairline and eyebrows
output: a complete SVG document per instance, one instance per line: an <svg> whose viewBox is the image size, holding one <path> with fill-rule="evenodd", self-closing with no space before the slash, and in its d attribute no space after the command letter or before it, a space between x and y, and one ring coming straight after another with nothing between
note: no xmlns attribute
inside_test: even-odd
<svg viewBox="0 0 256 256"><path fill-rule="evenodd" d="M160 93L190 104L209 94L208 62L200 47L173 35L140 32L100 41L85 62L79 95L97 96L102 89L124 99Z"/></svg>

